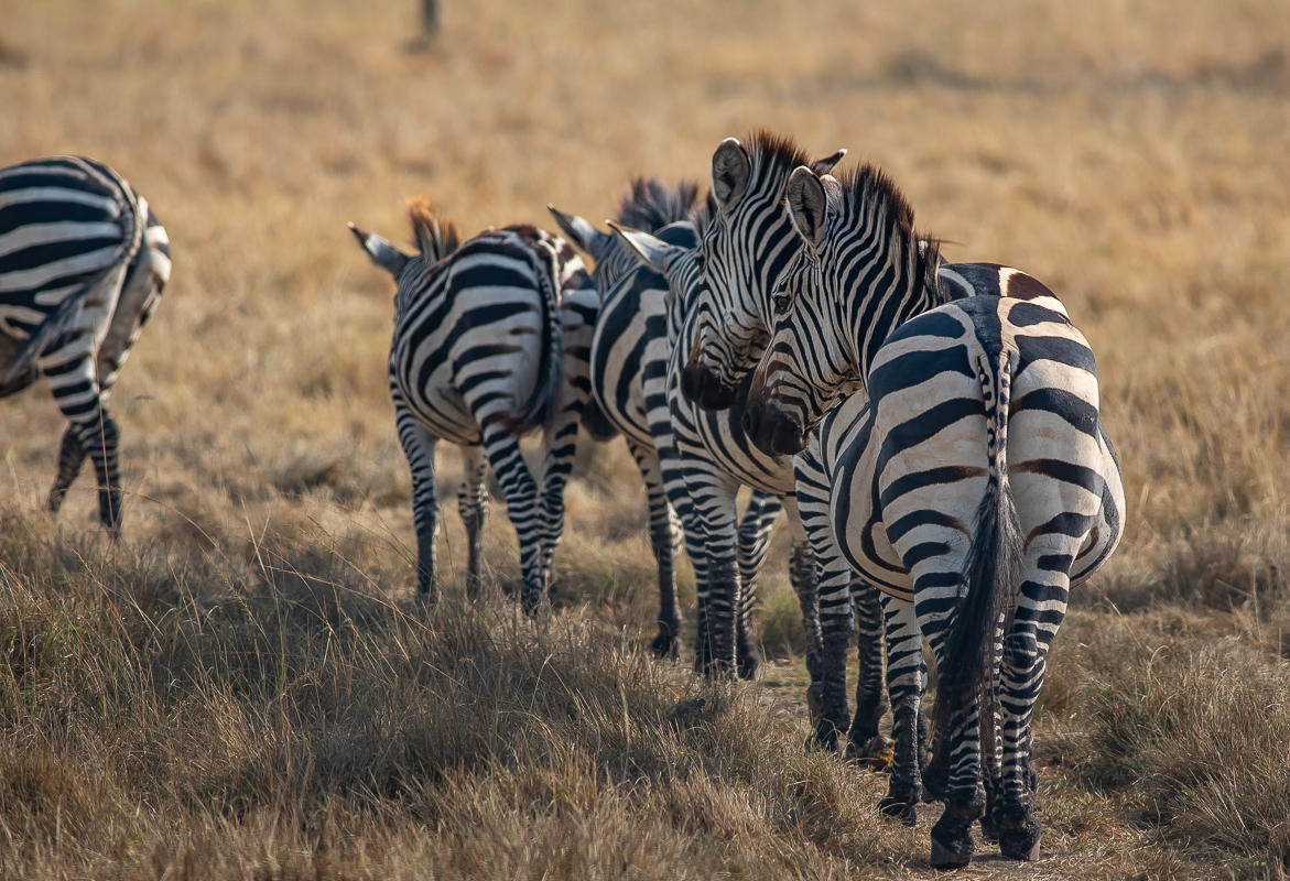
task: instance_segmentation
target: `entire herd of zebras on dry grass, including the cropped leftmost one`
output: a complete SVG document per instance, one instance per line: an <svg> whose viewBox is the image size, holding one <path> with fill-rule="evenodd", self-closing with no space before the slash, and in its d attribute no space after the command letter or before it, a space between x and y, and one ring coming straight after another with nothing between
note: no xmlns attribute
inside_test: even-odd
<svg viewBox="0 0 1290 881"><path fill-rule="evenodd" d="M764 132L728 138L706 197L636 181L610 232L548 206L561 235L510 226L462 241L414 200L418 253L405 254L351 224L397 285L388 378L418 589L437 597L439 440L464 463L468 593L481 584L490 467L519 537L520 604L535 614L579 430L622 433L658 561L653 650L680 654L684 542L695 668L756 675L755 575L783 511L813 740L869 757L890 708L880 810L912 826L920 801L944 802L931 864L968 864L977 820L1005 856L1035 859L1031 716L1045 658L1071 586L1124 533L1093 352L1037 280L943 262L882 172L832 175L845 152L811 160ZM117 430L104 400L169 266L165 231L106 166L54 157L0 170L0 395L46 377L70 422L50 507L89 455L114 535ZM541 482L520 453L538 428ZM924 641L939 671L930 721Z"/></svg>

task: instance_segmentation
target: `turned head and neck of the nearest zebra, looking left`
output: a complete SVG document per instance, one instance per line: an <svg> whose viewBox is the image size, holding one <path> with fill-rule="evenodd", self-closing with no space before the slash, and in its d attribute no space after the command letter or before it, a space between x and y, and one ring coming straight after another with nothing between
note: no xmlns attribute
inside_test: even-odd
<svg viewBox="0 0 1290 881"><path fill-rule="evenodd" d="M792 173L784 201L801 249L771 290L774 332L753 373L743 428L771 455L800 453L844 396L867 391L877 348L944 298L938 243L866 165L841 181Z"/></svg>

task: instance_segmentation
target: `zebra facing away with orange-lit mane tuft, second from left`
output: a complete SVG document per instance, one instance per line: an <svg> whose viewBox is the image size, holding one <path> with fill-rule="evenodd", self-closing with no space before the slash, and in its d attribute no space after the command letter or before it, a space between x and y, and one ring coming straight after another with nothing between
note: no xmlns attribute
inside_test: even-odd
<svg viewBox="0 0 1290 881"><path fill-rule="evenodd" d="M390 395L413 479L417 587L439 599L435 445L462 449L458 510L470 543L467 593L479 595L485 467L506 495L520 543L521 606L547 596L551 559L564 533L564 489L590 399L587 352L599 301L582 259L559 236L531 226L486 230L466 243L428 200L409 205L419 254L351 226L372 261L397 282L390 344ZM542 428L542 486L520 437Z"/></svg>

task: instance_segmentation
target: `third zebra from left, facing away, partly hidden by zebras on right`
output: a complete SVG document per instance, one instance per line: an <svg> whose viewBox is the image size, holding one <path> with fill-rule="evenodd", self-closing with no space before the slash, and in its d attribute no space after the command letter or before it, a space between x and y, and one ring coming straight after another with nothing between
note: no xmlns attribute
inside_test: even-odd
<svg viewBox="0 0 1290 881"><path fill-rule="evenodd" d="M702 210L698 186L681 182L670 190L657 178L637 178L623 199L618 223L654 232L664 241L694 248L698 241L690 219ZM681 609L676 597L675 561L680 524L693 517L682 480L663 479L663 460L655 448L655 432L668 422L666 373L668 352L667 281L640 266L611 233L596 230L580 217L547 206L560 230L595 261L592 284L601 293L601 310L591 343L591 388L597 411L610 427L623 433L627 448L645 481L649 503L650 544L658 562L658 635L650 648L662 657L680 655ZM679 313L679 308L672 310ZM675 317L673 317L675 321ZM739 571L752 584L766 557L770 529L780 511L779 499L753 493L739 525ZM673 513L675 512L675 513ZM684 531L695 537L694 529ZM699 593L706 595L703 549L689 547ZM738 658L743 676L752 676L760 660L752 610L756 595L746 592L739 615ZM706 637L699 633L699 644ZM818 653L817 653L818 654Z"/></svg>

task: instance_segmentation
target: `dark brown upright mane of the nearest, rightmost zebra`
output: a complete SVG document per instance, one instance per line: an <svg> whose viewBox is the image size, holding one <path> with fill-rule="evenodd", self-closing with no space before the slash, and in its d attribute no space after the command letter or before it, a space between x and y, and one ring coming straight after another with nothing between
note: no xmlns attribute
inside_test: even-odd
<svg viewBox="0 0 1290 881"><path fill-rule="evenodd" d="M906 266L911 267L911 277L917 279L933 304L949 301L949 293L942 290L937 277L940 266L940 239L920 232L913 226L913 205L904 197L895 181L886 172L866 163L855 170L842 172L837 181L837 200L829 199L837 210L835 223L849 230L863 230L869 218L881 215L882 233L900 248Z"/></svg>

